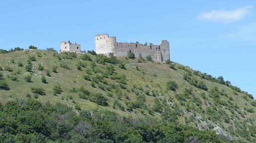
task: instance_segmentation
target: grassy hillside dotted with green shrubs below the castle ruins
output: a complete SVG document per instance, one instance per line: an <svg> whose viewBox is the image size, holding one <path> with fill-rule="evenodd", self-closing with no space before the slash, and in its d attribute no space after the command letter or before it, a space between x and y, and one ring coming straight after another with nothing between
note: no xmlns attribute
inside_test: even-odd
<svg viewBox="0 0 256 143"><path fill-rule="evenodd" d="M221 77L174 62L92 54L0 54L1 102L34 98L66 104L76 112L101 109L120 116L152 116L215 131L227 141L256 142L256 101Z"/></svg>

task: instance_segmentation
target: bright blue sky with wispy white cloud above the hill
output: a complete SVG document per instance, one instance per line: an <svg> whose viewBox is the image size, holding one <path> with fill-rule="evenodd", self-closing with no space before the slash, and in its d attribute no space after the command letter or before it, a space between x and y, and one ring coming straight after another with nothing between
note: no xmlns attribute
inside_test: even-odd
<svg viewBox="0 0 256 143"><path fill-rule="evenodd" d="M0 48L95 49L95 34L119 42L170 42L172 61L256 95L255 0L1 0ZM256 96L255 96L256 97Z"/></svg>

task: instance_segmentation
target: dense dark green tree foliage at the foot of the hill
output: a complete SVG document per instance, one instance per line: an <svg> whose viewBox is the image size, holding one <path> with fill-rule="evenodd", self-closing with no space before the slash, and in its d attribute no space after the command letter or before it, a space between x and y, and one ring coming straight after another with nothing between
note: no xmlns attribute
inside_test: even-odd
<svg viewBox="0 0 256 143"><path fill-rule="evenodd" d="M213 132L111 111L16 100L0 104L1 143L228 143Z"/></svg>

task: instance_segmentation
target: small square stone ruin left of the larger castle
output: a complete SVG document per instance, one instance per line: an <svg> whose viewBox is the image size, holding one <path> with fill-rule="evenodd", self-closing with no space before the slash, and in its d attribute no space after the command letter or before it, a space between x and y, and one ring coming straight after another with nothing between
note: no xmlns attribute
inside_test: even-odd
<svg viewBox="0 0 256 143"><path fill-rule="evenodd" d="M81 53L81 45L76 43L71 43L70 41L60 42L60 52L71 51L76 53Z"/></svg>

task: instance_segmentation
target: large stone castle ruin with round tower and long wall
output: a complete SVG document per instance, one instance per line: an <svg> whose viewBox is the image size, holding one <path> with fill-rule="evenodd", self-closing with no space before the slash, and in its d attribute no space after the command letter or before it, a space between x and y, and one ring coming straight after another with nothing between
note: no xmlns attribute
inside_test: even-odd
<svg viewBox="0 0 256 143"><path fill-rule="evenodd" d="M116 37L109 37L108 34L95 36L96 53L108 56L126 56L128 51L135 54L135 57L145 58L150 55L155 61L170 59L169 42L161 40L160 45L143 45L138 43L118 43Z"/></svg>

